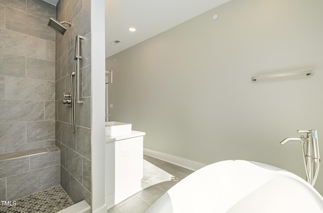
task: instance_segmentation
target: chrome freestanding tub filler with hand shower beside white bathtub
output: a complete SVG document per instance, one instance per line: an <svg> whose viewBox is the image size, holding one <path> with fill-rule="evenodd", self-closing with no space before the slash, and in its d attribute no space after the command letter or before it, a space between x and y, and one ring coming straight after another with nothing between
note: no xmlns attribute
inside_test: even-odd
<svg viewBox="0 0 323 213"><path fill-rule="evenodd" d="M318 169L319 169L319 147L318 147L318 137L317 130L297 130L297 133L306 134L306 137L301 135L299 138L285 138L280 143L284 145L288 141L298 141L302 145L303 161L306 172L307 182L314 187ZM306 154L305 154L305 143L306 143ZM315 165L315 167L314 167Z"/></svg>

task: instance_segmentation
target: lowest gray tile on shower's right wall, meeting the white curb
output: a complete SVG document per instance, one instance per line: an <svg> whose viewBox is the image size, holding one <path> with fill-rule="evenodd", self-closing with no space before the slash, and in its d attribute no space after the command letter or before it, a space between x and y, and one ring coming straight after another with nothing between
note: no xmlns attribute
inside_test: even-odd
<svg viewBox="0 0 323 213"><path fill-rule="evenodd" d="M71 193L70 197L74 203L85 200L91 203L91 193L87 191L73 176L71 177Z"/></svg>

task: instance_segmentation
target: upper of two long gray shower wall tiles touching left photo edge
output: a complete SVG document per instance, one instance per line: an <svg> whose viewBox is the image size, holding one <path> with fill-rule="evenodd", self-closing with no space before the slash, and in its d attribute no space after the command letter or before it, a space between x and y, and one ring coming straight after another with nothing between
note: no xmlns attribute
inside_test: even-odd
<svg viewBox="0 0 323 213"><path fill-rule="evenodd" d="M35 59L45 59L45 41L33 36L0 29L0 51L27 56Z"/></svg>

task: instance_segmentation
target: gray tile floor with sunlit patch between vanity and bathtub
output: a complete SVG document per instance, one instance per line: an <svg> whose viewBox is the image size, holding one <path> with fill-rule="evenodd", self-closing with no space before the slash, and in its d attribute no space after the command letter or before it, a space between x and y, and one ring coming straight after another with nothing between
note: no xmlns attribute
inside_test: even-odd
<svg viewBox="0 0 323 213"><path fill-rule="evenodd" d="M193 172L147 155L143 158L143 190L110 208L107 213L144 213L168 189Z"/></svg>

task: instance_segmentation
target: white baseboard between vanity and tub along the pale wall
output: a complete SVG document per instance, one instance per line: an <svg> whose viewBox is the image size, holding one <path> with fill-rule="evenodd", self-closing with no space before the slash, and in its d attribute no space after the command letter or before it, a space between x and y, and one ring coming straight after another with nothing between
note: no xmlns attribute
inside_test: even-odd
<svg viewBox="0 0 323 213"><path fill-rule="evenodd" d="M174 156L171 154L166 154L160 151L152 150L146 147L143 147L143 153L148 156L161 159L162 161L166 161L168 163L175 164L177 166L180 166L192 171L196 171L206 166L205 164L201 164L201 163L191 161L189 159L185 159L182 157Z"/></svg>

